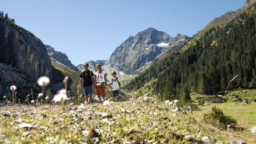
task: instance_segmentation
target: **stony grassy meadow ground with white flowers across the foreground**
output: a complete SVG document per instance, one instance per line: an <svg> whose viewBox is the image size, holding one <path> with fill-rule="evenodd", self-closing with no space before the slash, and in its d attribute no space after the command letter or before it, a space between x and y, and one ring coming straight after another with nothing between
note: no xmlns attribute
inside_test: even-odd
<svg viewBox="0 0 256 144"><path fill-rule="evenodd" d="M235 106L226 106L225 110L228 107ZM255 112L255 105L252 107ZM247 130L250 123L246 123L245 129L229 131L207 124L201 114L210 106L192 112L188 108L183 108L183 112L175 111L175 108L154 98L110 102L107 106L67 102L64 110L60 105L4 106L0 115L0 142L157 144L256 141L255 135ZM235 110L236 114L241 113L240 109ZM244 121L240 121L239 126L243 124Z"/></svg>

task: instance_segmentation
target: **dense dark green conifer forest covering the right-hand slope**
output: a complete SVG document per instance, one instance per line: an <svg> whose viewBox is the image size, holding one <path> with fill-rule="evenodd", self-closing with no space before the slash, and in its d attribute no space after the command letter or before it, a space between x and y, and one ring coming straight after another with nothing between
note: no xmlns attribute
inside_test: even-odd
<svg viewBox="0 0 256 144"><path fill-rule="evenodd" d="M185 44L184 44L185 45ZM184 52L182 46L151 66L124 86L136 90L152 79L149 89L160 98L172 94L198 92L215 94L229 89L255 86L256 13L255 6L243 12L224 28L211 28ZM166 96L167 95L167 96Z"/></svg>

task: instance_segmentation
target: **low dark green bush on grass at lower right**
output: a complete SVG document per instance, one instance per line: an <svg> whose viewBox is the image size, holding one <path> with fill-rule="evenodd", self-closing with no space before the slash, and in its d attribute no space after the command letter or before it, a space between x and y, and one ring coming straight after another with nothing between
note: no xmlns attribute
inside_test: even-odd
<svg viewBox="0 0 256 144"><path fill-rule="evenodd" d="M206 115L206 120L214 126L221 126L224 128L227 128L228 125L230 125L230 127L235 127L237 124L236 119L225 115L222 109L217 108L216 106L213 106L212 111Z"/></svg>

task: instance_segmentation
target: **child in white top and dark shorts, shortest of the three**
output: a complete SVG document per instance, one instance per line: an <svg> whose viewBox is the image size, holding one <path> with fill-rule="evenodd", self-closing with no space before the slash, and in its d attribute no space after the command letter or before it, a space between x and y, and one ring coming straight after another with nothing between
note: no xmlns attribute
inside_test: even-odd
<svg viewBox="0 0 256 144"><path fill-rule="evenodd" d="M110 85L112 86L112 92L114 99L116 98L116 101L118 101L119 98L119 91L121 90L121 83L118 80L118 77L116 77L116 72L112 71L111 75L113 78L111 78Z"/></svg>

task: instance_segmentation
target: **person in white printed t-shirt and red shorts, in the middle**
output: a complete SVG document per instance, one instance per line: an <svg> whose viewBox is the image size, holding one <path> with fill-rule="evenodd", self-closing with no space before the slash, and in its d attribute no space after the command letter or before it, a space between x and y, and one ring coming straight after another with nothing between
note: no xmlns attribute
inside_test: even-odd
<svg viewBox="0 0 256 144"><path fill-rule="evenodd" d="M105 86L107 84L106 72L101 70L101 64L96 65L97 72L94 73L94 86L96 88L96 95L98 95L99 102L101 102L100 94L102 94L102 100L105 100Z"/></svg>

